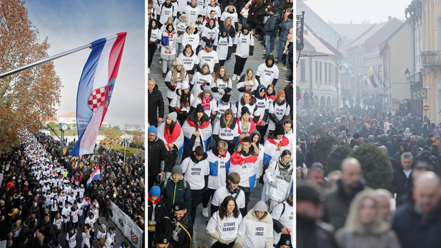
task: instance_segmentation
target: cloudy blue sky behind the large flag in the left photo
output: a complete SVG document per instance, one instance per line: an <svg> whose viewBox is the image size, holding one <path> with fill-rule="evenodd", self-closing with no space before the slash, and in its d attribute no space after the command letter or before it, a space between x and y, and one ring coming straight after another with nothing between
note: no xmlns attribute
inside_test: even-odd
<svg viewBox="0 0 441 248"><path fill-rule="evenodd" d="M111 125L145 124L144 1L25 1L40 38L49 38L50 56L103 37L127 32L112 101L104 121ZM91 49L54 61L63 83L58 115L76 110L76 91Z"/></svg>

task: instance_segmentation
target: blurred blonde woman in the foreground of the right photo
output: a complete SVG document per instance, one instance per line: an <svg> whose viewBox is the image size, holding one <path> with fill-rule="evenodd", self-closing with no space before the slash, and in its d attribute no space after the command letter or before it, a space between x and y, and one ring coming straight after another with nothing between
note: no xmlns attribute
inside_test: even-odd
<svg viewBox="0 0 441 248"><path fill-rule="evenodd" d="M336 231L339 247L400 248L391 225L384 220L380 204L370 190L363 190L352 200L345 227Z"/></svg>

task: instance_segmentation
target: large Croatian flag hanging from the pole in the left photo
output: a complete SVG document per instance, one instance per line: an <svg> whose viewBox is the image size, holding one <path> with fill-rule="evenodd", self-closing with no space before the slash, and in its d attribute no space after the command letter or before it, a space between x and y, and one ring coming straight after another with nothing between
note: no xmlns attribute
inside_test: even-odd
<svg viewBox="0 0 441 248"><path fill-rule="evenodd" d="M76 94L79 139L72 155L91 154L103 122L119 70L126 32L92 42Z"/></svg>

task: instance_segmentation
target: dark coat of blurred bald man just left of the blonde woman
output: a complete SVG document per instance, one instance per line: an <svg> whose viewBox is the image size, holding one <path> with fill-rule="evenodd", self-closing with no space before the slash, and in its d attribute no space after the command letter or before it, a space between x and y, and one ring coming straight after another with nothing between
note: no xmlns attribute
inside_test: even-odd
<svg viewBox="0 0 441 248"><path fill-rule="evenodd" d="M342 186L342 180L337 181L336 189L327 192L325 200L325 214L322 220L331 224L335 229L339 229L345 225L345 220L349 214L349 206L356 194L363 189L368 189L364 183L360 181L358 187L347 195Z"/></svg>

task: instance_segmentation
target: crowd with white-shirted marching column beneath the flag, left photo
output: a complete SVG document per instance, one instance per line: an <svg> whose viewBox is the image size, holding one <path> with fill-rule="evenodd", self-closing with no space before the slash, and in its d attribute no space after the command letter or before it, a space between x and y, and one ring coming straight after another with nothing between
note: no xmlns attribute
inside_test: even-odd
<svg viewBox="0 0 441 248"><path fill-rule="evenodd" d="M60 142L43 133L24 130L20 140L0 157L0 239L7 247L130 247L117 240L117 225L106 227L99 218L108 223L112 200L144 229L143 161L123 165L121 154L103 147L70 156L74 143L60 150ZM96 167L101 177L89 184Z"/></svg>

